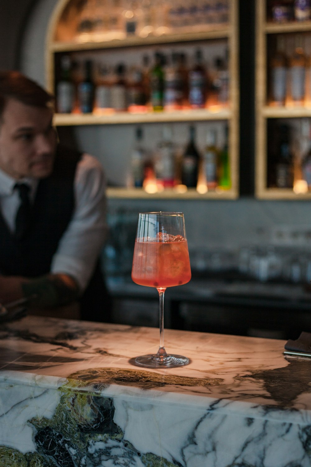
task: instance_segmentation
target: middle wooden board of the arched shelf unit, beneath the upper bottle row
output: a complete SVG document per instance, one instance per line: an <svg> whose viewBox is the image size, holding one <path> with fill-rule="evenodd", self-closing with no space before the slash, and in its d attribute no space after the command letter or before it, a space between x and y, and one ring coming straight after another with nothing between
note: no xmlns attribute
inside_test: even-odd
<svg viewBox="0 0 311 467"><path fill-rule="evenodd" d="M160 122L182 122L202 120L228 120L232 116L229 109L215 108L212 110L180 110L176 112L154 112L154 113L128 113L119 112L111 115L66 114L56 113L54 125L77 126L77 125L118 125L131 123L160 123Z"/></svg>

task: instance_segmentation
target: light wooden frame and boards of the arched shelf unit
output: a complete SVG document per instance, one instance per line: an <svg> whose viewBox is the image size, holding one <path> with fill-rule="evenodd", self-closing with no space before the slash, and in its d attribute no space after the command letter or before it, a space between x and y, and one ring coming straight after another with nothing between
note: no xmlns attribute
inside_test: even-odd
<svg viewBox="0 0 311 467"><path fill-rule="evenodd" d="M142 55L145 46L165 45L165 44L178 44L186 42L205 43L200 44L208 48L208 41L224 40L230 50L229 54L229 96L230 102L228 107L211 106L207 109L198 110L180 110L180 111L163 111L163 112L147 112L147 113L129 113L129 112L116 112L111 114L55 114L54 124L58 127L76 127L84 125L123 125L123 124L143 124L143 123L168 123L168 122L203 122L203 121L220 121L224 120L228 123L229 127L229 141L228 150L230 157L230 170L231 170L231 183L232 188L226 191L210 191L205 194L198 193L195 189L188 189L186 192L179 192L176 189L166 189L162 192L149 194L143 189L128 189L128 188L108 188L107 196L109 198L137 198L137 199L236 199L238 197L238 184L239 184L239 34L238 34L238 1L230 0L229 4L229 18L228 24L197 26L197 30L192 32L176 32L172 34L160 36L142 37L126 37L125 39L104 40L104 36L97 36L96 41L90 36L84 36L85 42L72 40L71 42L55 41L56 31L60 24L62 14L68 6L70 0L57 0L56 6L47 31L46 40L46 80L47 89L50 92L55 92L55 78L58 62L62 54L70 52L81 52L83 57L86 57L88 51L92 59L98 56L106 55L111 59L111 56L120 52L124 53L121 49L126 49L128 52L130 48L133 53ZM66 25L65 25L66 26ZM70 26L70 25L68 25ZM62 25L62 28L64 25ZM60 29L59 29L60 30ZM63 29L64 30L64 29ZM71 28L66 27L66 33L74 35L76 30L75 23ZM65 37L65 36L63 36ZM69 37L69 35L67 36ZM94 36L93 36L94 37ZM213 45L213 44L212 44ZM112 52L110 52L110 50ZM105 52L107 52L105 54ZM132 50L131 50L132 52ZM109 128L106 130L109 132ZM120 154L121 157L126 157L126 154ZM117 161L116 161L117 162ZM109 171L109 167L106 168ZM122 183L122 182L121 182ZM124 182L125 184L125 182Z"/></svg>

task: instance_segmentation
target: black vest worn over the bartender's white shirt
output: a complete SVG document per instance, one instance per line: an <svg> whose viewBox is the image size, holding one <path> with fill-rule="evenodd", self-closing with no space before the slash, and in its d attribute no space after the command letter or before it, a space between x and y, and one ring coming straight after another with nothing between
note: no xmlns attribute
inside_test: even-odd
<svg viewBox="0 0 311 467"><path fill-rule="evenodd" d="M81 153L57 148L53 173L38 184L32 219L22 240L15 239L0 213L0 273L36 277L48 274L52 257L74 210L74 177ZM109 321L110 301L99 262L81 298L83 319Z"/></svg>

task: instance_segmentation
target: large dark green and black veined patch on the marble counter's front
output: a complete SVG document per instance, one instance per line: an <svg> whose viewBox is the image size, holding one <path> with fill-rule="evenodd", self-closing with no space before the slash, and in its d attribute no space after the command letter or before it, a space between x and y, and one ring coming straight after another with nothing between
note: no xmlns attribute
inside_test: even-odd
<svg viewBox="0 0 311 467"><path fill-rule="evenodd" d="M124 378L123 371L121 378ZM114 369L113 373L117 377L117 370ZM138 373L136 379L142 372L135 373ZM154 376L151 375L152 380ZM161 381L162 375L158 376ZM82 385L85 385L83 380ZM0 467L179 465L153 453L140 453L124 439L124 432L114 422L113 399L90 391L79 392L69 386L70 382L59 389L62 396L51 418L33 417L28 420L33 428L36 452L23 454L14 448L0 446Z"/></svg>

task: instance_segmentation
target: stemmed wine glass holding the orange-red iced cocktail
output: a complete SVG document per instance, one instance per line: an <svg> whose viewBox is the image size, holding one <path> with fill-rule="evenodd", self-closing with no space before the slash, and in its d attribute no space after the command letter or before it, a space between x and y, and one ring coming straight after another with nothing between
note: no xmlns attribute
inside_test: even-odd
<svg viewBox="0 0 311 467"><path fill-rule="evenodd" d="M132 280L154 287L160 301L160 347L157 354L136 357L135 365L168 368L187 365L182 355L166 354L164 347L164 292L191 279L184 215L182 212L140 212L134 247Z"/></svg>

